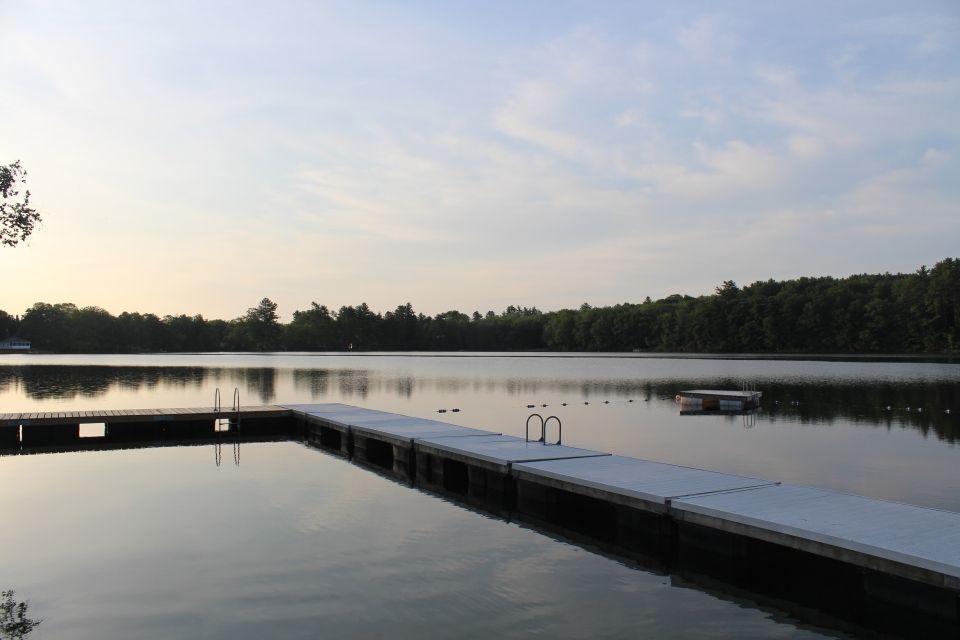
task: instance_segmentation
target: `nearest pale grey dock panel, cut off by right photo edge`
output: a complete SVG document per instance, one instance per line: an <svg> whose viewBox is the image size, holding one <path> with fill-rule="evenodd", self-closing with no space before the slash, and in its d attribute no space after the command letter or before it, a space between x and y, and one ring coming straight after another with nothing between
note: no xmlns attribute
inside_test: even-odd
<svg viewBox="0 0 960 640"><path fill-rule="evenodd" d="M797 485L681 498L672 510L921 567L960 586L960 513Z"/></svg>

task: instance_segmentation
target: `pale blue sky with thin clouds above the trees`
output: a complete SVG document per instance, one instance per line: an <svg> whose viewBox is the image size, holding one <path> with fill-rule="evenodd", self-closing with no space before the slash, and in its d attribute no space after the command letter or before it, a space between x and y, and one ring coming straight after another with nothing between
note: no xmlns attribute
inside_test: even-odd
<svg viewBox="0 0 960 640"><path fill-rule="evenodd" d="M960 3L0 0L0 309L543 310L960 256Z"/></svg>

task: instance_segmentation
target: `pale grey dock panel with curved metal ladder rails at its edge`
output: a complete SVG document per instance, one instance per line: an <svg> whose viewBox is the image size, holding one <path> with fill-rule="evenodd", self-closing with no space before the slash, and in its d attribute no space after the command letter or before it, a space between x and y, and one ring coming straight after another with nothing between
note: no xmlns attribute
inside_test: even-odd
<svg viewBox="0 0 960 640"><path fill-rule="evenodd" d="M518 462L562 458L593 458L610 455L590 449L527 442L523 438L513 436L469 436L453 439L424 438L417 440L417 444L422 448L483 460L504 470Z"/></svg>

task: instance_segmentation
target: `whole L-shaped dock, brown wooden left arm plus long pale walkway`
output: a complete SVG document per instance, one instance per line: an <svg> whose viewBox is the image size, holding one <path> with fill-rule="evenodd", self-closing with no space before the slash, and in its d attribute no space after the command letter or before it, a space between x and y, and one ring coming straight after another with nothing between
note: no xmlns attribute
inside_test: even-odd
<svg viewBox="0 0 960 640"><path fill-rule="evenodd" d="M103 435L81 438L82 423ZM2 414L0 452L169 446L224 430L300 441L666 571L883 631L960 635L960 513L334 403Z"/></svg>

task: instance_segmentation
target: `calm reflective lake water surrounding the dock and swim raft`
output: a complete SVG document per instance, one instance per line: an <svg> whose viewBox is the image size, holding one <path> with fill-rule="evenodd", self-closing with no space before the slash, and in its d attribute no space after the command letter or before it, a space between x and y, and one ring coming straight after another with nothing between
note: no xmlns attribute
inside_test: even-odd
<svg viewBox="0 0 960 640"><path fill-rule="evenodd" d="M0 357L0 413L343 402L960 511L960 364L556 354ZM680 415L683 389L763 392ZM532 405L532 407L531 407ZM457 411L454 411L457 410ZM35 637L819 637L837 629L471 511L299 443L0 457ZM217 464L219 463L219 464ZM239 464L238 464L239 463Z"/></svg>

